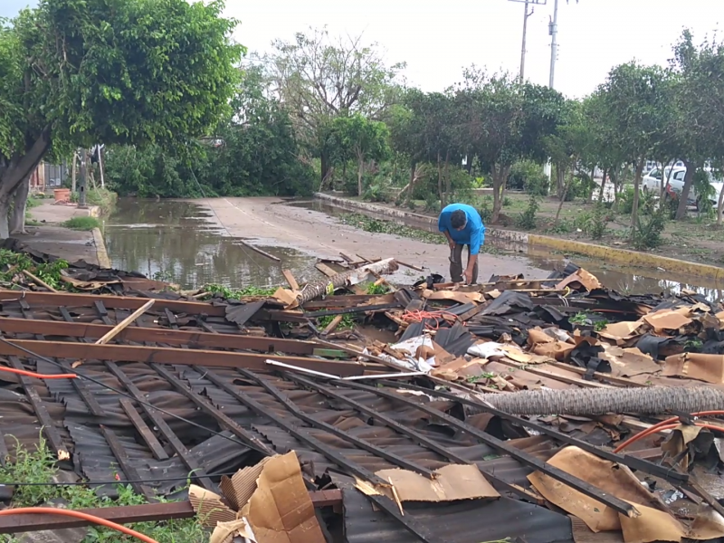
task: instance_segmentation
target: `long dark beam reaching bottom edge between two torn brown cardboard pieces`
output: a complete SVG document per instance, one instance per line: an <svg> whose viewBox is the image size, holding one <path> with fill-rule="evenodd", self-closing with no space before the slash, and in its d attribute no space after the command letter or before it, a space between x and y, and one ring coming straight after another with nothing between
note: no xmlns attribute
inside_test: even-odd
<svg viewBox="0 0 724 543"><path fill-rule="evenodd" d="M256 414L260 414L264 417L271 419L274 424L286 430L301 443L306 443L312 449L319 452L319 454L325 456L330 462L337 464L340 468L344 469L348 473L357 475L357 477L359 477L360 479L372 482L376 485L388 486L388 481L382 480L381 478L377 477L375 473L367 470L367 468L359 465L357 462L349 460L343 454L340 454L339 452L333 450L326 443L322 443L321 441L319 441L319 439L311 435L311 433L308 432L306 428L302 428L296 422L292 422L278 416L277 414L274 414L273 412L271 412L270 409L266 408L264 405L252 399L250 395L241 394L238 387L226 383L224 379L216 376L213 371L207 368L204 368L204 371L205 376L209 380L211 380L216 386L224 389L224 391L227 392L229 395L232 395L233 398L236 399L239 403L246 405ZM410 517L409 515L405 517L401 516L399 509L393 500L390 500L386 496L367 496L367 494L365 494L365 496L367 497L367 500L372 501L378 508L384 510L393 519L400 522L405 527L405 529L412 533L415 537L420 538L420 540L424 541L425 543L443 543L440 538L433 535L433 533L429 529L421 525L414 518Z"/></svg>

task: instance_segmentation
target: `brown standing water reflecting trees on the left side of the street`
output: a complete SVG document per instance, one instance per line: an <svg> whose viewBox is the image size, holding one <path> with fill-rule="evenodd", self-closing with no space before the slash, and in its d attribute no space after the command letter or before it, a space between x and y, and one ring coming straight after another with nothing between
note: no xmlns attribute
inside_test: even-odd
<svg viewBox="0 0 724 543"><path fill-rule="evenodd" d="M114 268L140 271L182 289L210 283L243 288L285 282L279 262L226 235L211 209L193 202L121 198L106 221L104 237ZM317 273L317 259L311 255L284 247L259 248L281 258L284 268L300 280Z"/></svg>

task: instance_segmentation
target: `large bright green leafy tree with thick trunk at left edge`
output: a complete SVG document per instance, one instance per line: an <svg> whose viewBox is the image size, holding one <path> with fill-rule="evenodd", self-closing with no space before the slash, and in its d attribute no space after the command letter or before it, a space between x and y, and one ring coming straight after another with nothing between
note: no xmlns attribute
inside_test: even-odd
<svg viewBox="0 0 724 543"><path fill-rule="evenodd" d="M0 237L15 192L13 226L22 229L29 176L49 151L165 144L215 124L243 52L223 8L42 0L0 32Z"/></svg>

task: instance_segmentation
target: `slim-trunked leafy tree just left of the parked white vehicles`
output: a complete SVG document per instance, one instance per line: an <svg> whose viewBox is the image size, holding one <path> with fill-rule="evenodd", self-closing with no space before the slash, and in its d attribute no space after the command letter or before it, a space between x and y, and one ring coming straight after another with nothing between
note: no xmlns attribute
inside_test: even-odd
<svg viewBox="0 0 724 543"><path fill-rule="evenodd" d="M609 135L618 140L626 160L634 165L632 229L638 224L643 166L655 148L662 122L666 122L665 100L668 94L664 91L664 78L665 73L658 66L628 62L614 67L601 89L613 128Z"/></svg>

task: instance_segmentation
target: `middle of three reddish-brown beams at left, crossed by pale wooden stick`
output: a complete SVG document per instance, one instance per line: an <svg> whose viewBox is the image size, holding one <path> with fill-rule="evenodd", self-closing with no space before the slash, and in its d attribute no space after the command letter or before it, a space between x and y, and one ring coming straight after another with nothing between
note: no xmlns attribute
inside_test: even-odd
<svg viewBox="0 0 724 543"><path fill-rule="evenodd" d="M171 313L173 315L173 313ZM69 338L102 338L112 325L87 324L84 322L63 322L60 320L0 319L0 331L13 334L33 334L43 330L45 336L66 336ZM117 341L135 343L165 343L167 345L188 346L190 348L233 348L251 349L266 353L291 353L311 355L318 347L310 341L280 338L257 338L236 334L217 334L176 329L151 329L132 327L123 330L115 338Z"/></svg>

